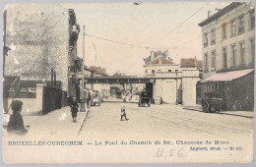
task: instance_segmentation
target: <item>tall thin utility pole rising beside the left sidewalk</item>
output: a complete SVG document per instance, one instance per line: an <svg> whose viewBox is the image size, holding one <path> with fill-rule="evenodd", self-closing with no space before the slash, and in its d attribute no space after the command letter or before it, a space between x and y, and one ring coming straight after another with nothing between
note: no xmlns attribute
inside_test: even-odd
<svg viewBox="0 0 256 167"><path fill-rule="evenodd" d="M86 99L85 99L85 26L84 26L84 34L83 34L83 64L82 64L82 91L81 91L81 107L80 112L86 111Z"/></svg>

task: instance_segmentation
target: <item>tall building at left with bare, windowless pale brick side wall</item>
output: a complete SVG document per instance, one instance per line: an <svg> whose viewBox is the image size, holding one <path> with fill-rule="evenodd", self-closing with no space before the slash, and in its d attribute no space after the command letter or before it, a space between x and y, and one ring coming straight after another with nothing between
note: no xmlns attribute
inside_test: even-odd
<svg viewBox="0 0 256 167"><path fill-rule="evenodd" d="M4 17L4 44L9 48L4 56L5 109L12 99L12 88L18 94L29 94L29 90L35 93L18 95L24 108L41 101L42 105L36 102L37 108L29 107L31 112L56 109L51 101L66 105L67 94L76 86L70 77L75 69L80 31L74 10L60 4L12 4L7 6ZM13 78L20 82L9 87L8 80Z"/></svg>

